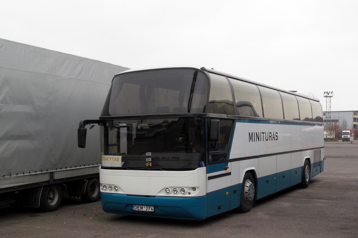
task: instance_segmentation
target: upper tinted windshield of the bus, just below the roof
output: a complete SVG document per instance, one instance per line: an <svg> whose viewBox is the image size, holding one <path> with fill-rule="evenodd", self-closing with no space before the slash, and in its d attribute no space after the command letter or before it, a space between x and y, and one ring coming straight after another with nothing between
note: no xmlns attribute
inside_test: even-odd
<svg viewBox="0 0 358 238"><path fill-rule="evenodd" d="M157 69L114 77L101 117L202 113L208 78L194 69Z"/></svg>

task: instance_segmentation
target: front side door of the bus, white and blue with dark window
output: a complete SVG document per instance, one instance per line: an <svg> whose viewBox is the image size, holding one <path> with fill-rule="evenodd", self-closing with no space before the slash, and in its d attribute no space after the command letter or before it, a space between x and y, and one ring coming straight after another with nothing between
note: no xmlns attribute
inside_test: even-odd
<svg viewBox="0 0 358 238"><path fill-rule="evenodd" d="M209 149L207 160L207 217L230 210L231 163L228 162L228 145L232 123L220 120L220 140Z"/></svg>

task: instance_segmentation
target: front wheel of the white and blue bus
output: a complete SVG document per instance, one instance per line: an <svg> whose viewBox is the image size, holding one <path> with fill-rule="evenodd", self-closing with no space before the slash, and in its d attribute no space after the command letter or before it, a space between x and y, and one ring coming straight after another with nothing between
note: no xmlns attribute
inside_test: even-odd
<svg viewBox="0 0 358 238"><path fill-rule="evenodd" d="M255 181L250 172L245 173L241 186L239 211L249 212L255 201Z"/></svg>

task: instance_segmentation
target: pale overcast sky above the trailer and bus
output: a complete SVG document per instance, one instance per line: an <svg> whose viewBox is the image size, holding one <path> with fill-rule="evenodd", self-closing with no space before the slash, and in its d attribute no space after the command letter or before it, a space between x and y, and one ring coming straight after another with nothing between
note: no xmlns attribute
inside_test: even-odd
<svg viewBox="0 0 358 238"><path fill-rule="evenodd" d="M358 110L357 0L0 0L0 38L129 68L195 64Z"/></svg>

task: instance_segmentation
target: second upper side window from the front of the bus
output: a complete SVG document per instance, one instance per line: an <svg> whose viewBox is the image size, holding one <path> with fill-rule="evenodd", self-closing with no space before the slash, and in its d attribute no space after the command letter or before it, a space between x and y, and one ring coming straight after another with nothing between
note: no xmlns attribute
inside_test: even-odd
<svg viewBox="0 0 358 238"><path fill-rule="evenodd" d="M229 80L234 88L238 115L262 117L261 96L257 86L235 79Z"/></svg>

